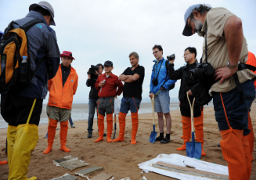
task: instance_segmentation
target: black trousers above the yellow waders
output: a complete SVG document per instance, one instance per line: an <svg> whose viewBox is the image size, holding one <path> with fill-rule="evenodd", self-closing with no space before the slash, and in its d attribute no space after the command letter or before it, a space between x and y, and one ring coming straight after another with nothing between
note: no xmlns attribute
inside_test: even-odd
<svg viewBox="0 0 256 180"><path fill-rule="evenodd" d="M1 115L9 125L18 126L20 124L26 124L33 103L34 99L32 98L16 95L1 95ZM42 103L42 99L36 100L29 124L38 126Z"/></svg>

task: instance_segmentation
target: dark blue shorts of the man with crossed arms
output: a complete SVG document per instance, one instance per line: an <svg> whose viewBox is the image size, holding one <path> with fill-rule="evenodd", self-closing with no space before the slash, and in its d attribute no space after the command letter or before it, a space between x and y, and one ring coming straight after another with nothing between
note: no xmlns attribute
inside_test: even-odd
<svg viewBox="0 0 256 180"><path fill-rule="evenodd" d="M129 110L131 110L131 113L137 113L139 110L139 104L141 100L138 98L128 98L123 97L121 99L121 113L128 113Z"/></svg>

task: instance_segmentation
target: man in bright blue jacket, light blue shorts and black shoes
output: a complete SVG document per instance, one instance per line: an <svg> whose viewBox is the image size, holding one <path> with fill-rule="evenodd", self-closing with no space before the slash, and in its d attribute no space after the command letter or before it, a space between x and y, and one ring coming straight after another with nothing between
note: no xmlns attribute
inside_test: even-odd
<svg viewBox="0 0 256 180"><path fill-rule="evenodd" d="M171 80L168 77L168 70L165 62L167 61L163 57L163 49L160 45L153 46L153 56L155 64L150 80L150 98L155 96L154 109L158 116L158 125L160 136L157 137L156 141L161 143L171 142L171 114L170 114L170 95L169 91L171 86L175 84L176 80ZM164 116L163 116L164 114ZM164 117L166 119L166 136L164 138Z"/></svg>

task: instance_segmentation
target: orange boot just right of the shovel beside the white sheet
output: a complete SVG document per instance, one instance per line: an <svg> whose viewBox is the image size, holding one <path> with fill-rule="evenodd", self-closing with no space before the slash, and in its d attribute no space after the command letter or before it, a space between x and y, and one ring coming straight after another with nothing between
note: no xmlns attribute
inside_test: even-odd
<svg viewBox="0 0 256 180"><path fill-rule="evenodd" d="M202 117L194 117L194 126L196 130L196 135L197 135L197 142L201 142L202 146L202 153L201 156L205 157L206 153L204 152L204 130L203 130L203 121Z"/></svg>

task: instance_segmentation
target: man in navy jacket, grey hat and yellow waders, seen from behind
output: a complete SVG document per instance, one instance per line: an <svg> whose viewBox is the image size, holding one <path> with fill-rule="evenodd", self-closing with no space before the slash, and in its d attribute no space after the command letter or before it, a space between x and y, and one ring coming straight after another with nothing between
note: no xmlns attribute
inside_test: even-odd
<svg viewBox="0 0 256 180"><path fill-rule="evenodd" d="M31 152L38 142L38 124L43 99L47 95L47 82L55 77L59 68L56 34L49 27L55 25L52 5L48 2L32 4L26 17L14 21L13 28L22 27L31 20L41 20L26 31L27 58L34 76L20 92L1 95L1 114L8 123L9 179L35 179L27 178Z"/></svg>

